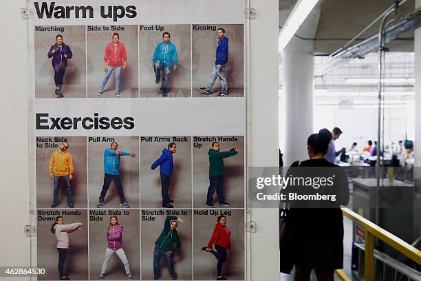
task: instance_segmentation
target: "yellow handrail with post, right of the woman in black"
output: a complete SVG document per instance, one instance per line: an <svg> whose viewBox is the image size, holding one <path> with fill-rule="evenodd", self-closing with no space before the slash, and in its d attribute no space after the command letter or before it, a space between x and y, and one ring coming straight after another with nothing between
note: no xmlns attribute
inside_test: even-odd
<svg viewBox="0 0 421 281"><path fill-rule="evenodd" d="M404 240L398 238L397 236L394 236L389 231L382 229L374 222L356 214L350 209L342 208L342 213L344 216L365 229L365 280L374 280L374 237L377 237L383 242L389 244L389 246L393 247L393 249L403 253L414 262L421 264L420 250L416 249L407 242L404 242ZM341 280L349 280L348 276L342 270L336 270L335 273Z"/></svg>

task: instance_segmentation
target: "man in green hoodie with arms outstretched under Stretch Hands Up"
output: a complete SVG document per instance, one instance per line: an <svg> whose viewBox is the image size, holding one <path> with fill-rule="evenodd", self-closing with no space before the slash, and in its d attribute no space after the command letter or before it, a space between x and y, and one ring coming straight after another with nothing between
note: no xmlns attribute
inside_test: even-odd
<svg viewBox="0 0 421 281"><path fill-rule="evenodd" d="M206 196L206 206L215 208L213 205L213 194L215 190L218 194L219 205L230 206L224 198L224 158L234 156L238 153L238 147L235 146L226 152L220 152L219 143L214 141L212 148L209 149L209 187Z"/></svg>

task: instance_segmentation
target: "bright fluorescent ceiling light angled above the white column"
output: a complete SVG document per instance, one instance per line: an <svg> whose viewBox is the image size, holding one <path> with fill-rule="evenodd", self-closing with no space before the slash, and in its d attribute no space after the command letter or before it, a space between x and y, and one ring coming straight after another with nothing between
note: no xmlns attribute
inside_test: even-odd
<svg viewBox="0 0 421 281"><path fill-rule="evenodd" d="M319 0L299 0L279 33L279 53L288 45L296 30L305 21Z"/></svg>

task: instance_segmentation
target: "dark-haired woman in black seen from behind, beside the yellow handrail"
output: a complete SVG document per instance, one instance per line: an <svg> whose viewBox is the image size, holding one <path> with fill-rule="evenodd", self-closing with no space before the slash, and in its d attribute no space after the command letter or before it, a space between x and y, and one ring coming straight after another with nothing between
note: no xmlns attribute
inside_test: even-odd
<svg viewBox="0 0 421 281"><path fill-rule="evenodd" d="M334 271L343 268L343 215L341 205L347 205L349 187L345 171L325 160L332 140L328 129L321 129L307 139L308 160L299 164L300 176L314 179L313 185L295 190L305 194L328 194L332 200L292 202L285 227L288 245L285 254L295 266L294 280L310 280L312 269L319 281L333 281ZM303 167L303 169L301 169ZM311 167L311 168L310 168ZM314 168L312 168L314 167ZM316 179L332 177L333 185L316 186ZM320 181L318 183L321 183ZM290 187L291 189L293 187ZM294 189L292 189L294 190ZM294 207L295 205L295 207Z"/></svg>

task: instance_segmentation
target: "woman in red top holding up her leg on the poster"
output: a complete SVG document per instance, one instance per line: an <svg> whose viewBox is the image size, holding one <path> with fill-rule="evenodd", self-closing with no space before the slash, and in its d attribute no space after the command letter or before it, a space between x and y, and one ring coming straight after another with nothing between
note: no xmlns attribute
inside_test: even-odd
<svg viewBox="0 0 421 281"><path fill-rule="evenodd" d="M226 216L219 216L208 245L202 248L202 251L212 253L218 260L216 280L228 280L222 275L222 264L226 262L227 249L231 248L230 237L231 231L226 227ZM213 244L215 244L216 251L212 249Z"/></svg>

